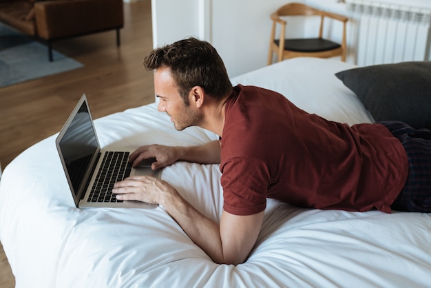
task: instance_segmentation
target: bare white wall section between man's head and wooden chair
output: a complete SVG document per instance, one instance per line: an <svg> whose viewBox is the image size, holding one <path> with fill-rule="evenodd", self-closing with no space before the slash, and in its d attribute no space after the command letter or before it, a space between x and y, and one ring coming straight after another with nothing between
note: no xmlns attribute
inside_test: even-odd
<svg viewBox="0 0 431 288"><path fill-rule="evenodd" d="M213 0L211 43L230 76L266 65L272 22L269 15L286 0Z"/></svg>

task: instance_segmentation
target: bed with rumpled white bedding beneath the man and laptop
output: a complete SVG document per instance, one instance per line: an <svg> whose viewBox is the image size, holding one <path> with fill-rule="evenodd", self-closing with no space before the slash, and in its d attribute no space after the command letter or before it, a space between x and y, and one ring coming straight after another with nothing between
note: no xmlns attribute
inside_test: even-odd
<svg viewBox="0 0 431 288"><path fill-rule="evenodd" d="M297 58L232 82L281 92L302 109L353 125L375 121L337 72L355 66ZM346 85L344 85L346 83ZM91 108L91 107L90 107ZM177 132L152 103L95 121L103 147L198 145L217 135ZM430 287L431 215L302 209L268 200L244 264L217 265L165 212L77 209L56 135L25 150L0 181L0 240L17 287ZM162 171L189 202L219 220L218 165L178 162Z"/></svg>

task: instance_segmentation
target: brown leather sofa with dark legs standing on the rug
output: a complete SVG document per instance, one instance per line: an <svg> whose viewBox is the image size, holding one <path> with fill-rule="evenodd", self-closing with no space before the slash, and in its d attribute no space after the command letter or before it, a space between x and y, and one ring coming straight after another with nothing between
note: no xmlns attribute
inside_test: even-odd
<svg viewBox="0 0 431 288"><path fill-rule="evenodd" d="M123 0L0 0L0 21L48 43L107 30L116 30L120 45Z"/></svg>

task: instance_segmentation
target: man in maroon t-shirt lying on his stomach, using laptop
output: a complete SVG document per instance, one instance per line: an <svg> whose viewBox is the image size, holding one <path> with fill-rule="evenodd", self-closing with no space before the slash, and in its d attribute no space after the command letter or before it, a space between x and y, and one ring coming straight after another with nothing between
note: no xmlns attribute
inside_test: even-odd
<svg viewBox="0 0 431 288"><path fill-rule="evenodd" d="M406 130L428 137L420 149L414 143L412 154L428 159L430 167L430 131L417 132L403 123L348 127L308 114L276 92L232 88L215 48L198 39L153 50L144 65L155 70L158 110L171 116L176 129L196 125L218 134L220 141L197 147L140 147L130 161L136 166L155 157L153 169L175 161L220 163L224 211L215 223L169 183L151 176L129 177L116 183L113 192L120 200L165 207L215 263L246 260L262 226L266 198L317 209L389 213L392 205L431 211L431 177L412 173L417 172L415 160L404 148L412 143ZM414 198L417 191L422 198Z"/></svg>

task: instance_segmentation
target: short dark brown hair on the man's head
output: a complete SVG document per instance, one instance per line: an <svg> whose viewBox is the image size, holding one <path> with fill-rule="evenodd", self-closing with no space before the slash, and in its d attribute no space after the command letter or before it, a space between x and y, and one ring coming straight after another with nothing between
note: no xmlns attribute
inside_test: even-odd
<svg viewBox="0 0 431 288"><path fill-rule="evenodd" d="M189 38L156 48L145 57L144 65L148 70L169 68L185 105L189 105L189 92L195 86L216 100L232 92L224 63L207 41Z"/></svg>

